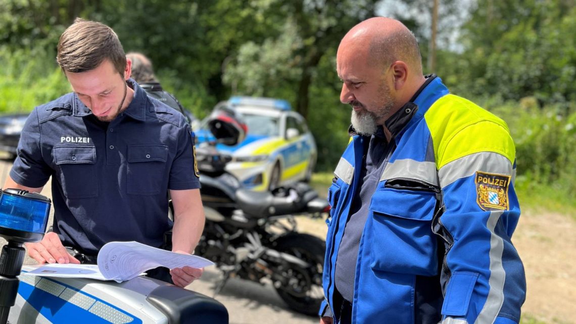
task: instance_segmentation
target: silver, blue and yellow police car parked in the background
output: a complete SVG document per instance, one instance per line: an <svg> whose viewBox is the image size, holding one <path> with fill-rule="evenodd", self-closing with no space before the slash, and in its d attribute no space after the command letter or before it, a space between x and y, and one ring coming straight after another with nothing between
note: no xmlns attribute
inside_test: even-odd
<svg viewBox="0 0 576 324"><path fill-rule="evenodd" d="M255 191L310 179L316 164L316 142L304 118L291 110L288 101L237 96L226 104L240 114L248 133L237 145L214 144L203 123L195 130L200 171L203 162L204 171L210 171L206 168L218 160L242 186ZM215 145L215 150L203 149L207 145Z"/></svg>

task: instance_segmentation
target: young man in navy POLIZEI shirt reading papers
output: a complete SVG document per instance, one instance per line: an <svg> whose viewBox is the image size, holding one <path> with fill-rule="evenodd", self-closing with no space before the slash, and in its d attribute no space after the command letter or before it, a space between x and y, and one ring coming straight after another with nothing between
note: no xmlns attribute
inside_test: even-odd
<svg viewBox="0 0 576 324"><path fill-rule="evenodd" d="M4 186L40 192L52 176L54 232L26 244L30 257L78 263L64 246L93 257L111 241L161 247L172 225L172 251L191 253L204 214L184 116L130 78L122 44L106 25L75 20L60 36L56 60L74 92L32 111ZM185 287L202 269L153 273Z"/></svg>

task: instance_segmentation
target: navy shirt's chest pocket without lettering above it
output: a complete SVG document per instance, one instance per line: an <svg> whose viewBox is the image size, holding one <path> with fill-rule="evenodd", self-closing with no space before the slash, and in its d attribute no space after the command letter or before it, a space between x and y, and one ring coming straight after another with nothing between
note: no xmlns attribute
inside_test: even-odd
<svg viewBox="0 0 576 324"><path fill-rule="evenodd" d="M166 191L166 145L128 145L126 190L132 195L157 195Z"/></svg>

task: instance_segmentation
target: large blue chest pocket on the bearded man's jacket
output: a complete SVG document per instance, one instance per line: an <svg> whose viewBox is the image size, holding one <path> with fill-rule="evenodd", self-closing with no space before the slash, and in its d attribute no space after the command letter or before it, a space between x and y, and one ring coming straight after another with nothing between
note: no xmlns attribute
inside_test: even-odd
<svg viewBox="0 0 576 324"><path fill-rule="evenodd" d="M374 270L434 276L438 272L437 238L431 223L437 207L435 190L403 180L374 193L370 266ZM401 188L401 189L399 189Z"/></svg>

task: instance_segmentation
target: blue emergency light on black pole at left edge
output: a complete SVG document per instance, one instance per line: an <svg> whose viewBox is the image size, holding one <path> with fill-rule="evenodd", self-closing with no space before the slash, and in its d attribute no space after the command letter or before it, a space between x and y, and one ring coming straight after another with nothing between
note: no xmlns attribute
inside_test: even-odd
<svg viewBox="0 0 576 324"><path fill-rule="evenodd" d="M23 243L44 237L51 201L26 190L0 190L0 236L8 241L0 256L0 324L8 321L18 294L18 277L24 263Z"/></svg>

